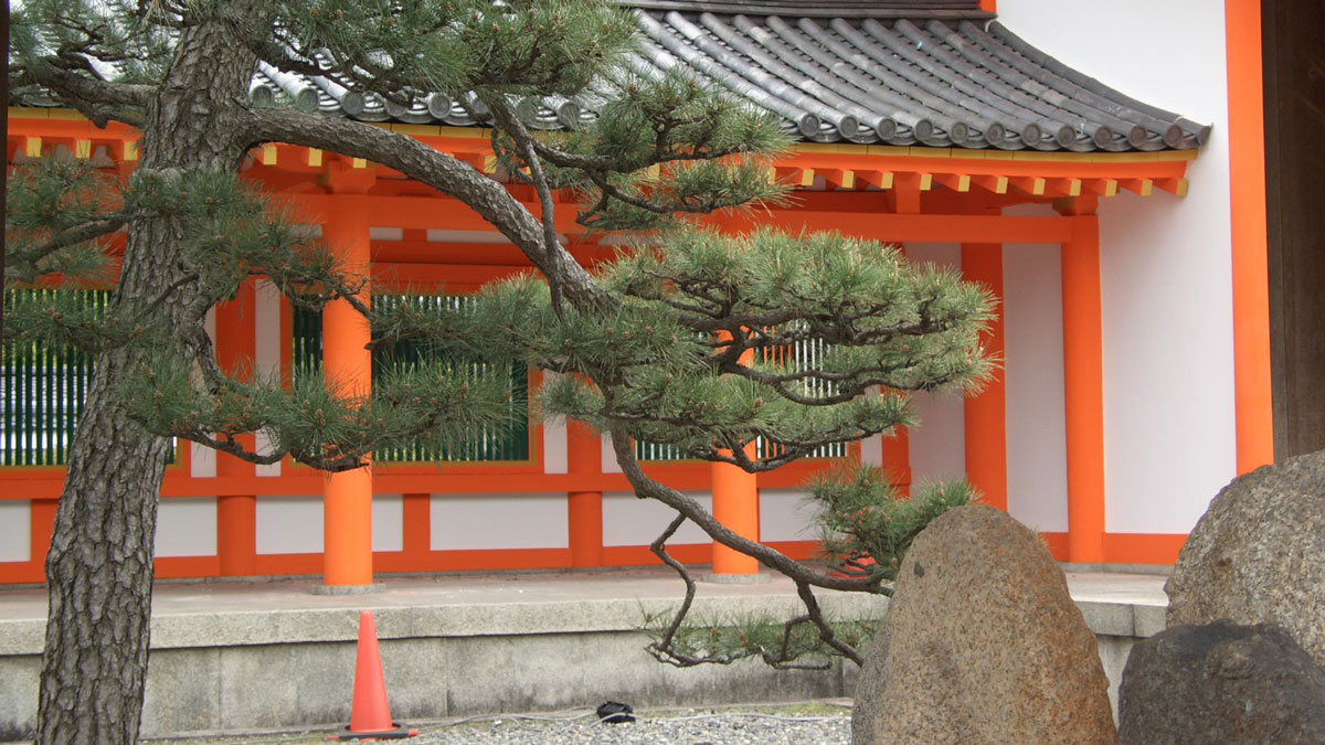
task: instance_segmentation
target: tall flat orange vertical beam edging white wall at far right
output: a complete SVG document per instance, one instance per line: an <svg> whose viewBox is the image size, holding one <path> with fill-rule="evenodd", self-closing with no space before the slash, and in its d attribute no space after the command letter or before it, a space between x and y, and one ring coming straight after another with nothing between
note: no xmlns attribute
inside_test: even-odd
<svg viewBox="0 0 1325 745"><path fill-rule="evenodd" d="M1275 461L1260 1L1226 0L1238 473ZM1157 182L1165 188L1165 184Z"/></svg>

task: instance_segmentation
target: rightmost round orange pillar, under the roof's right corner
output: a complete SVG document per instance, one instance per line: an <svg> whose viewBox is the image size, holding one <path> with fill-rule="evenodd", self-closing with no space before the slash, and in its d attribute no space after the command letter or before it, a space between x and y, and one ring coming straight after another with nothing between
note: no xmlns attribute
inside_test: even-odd
<svg viewBox="0 0 1325 745"><path fill-rule="evenodd" d="M1068 559L1104 561L1104 349L1100 224L1072 219L1063 244L1063 388L1067 424Z"/></svg>

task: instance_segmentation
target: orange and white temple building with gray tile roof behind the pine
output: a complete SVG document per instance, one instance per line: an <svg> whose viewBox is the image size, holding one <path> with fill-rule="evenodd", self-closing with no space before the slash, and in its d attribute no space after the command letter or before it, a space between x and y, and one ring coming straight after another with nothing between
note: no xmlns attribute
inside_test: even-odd
<svg viewBox="0 0 1325 745"><path fill-rule="evenodd" d="M1301 449L1284 430L1298 415L1283 402L1295 399L1271 395L1259 3L623 3L643 38L628 60L636 74L692 69L782 117L798 141L772 174L795 184L794 204L709 224L896 243L999 298L986 341L1003 366L983 392L917 396L918 428L825 456L877 464L904 485L965 476L1041 532L1060 561L1171 563L1219 488L1275 460L1276 436ZM506 180L469 102L433 94L407 109L266 65L250 95L371 122ZM519 111L555 130L592 121L604 103L590 91L529 98ZM8 133L11 163L62 155L127 171L138 156L134 130L58 107L9 109ZM242 178L368 262L387 301L404 292L460 308L529 266L458 201L370 162L269 143ZM534 204L529 187L507 188ZM556 209L579 261L611 258L612 236L576 225L572 201ZM1276 318L1284 338L1298 333ZM293 310L262 280L208 321L223 363L250 361L286 380L346 338L352 346L343 323ZM41 582L90 363L4 355L0 583ZM539 371L515 375L515 423L474 433L440 463L375 453L371 477L354 487L372 494L371 553L355 549L354 559L370 562L370 577L655 563L648 544L669 510L633 496L596 433L531 418L539 384ZM710 464L647 445L640 456L665 484L733 514L726 490L742 487L716 480ZM751 477L733 520L814 557L803 481L824 463ZM162 487L158 575L323 575L333 522L370 518L325 508L329 484L289 461L254 467L182 444ZM713 561L694 526L672 545L681 561Z"/></svg>

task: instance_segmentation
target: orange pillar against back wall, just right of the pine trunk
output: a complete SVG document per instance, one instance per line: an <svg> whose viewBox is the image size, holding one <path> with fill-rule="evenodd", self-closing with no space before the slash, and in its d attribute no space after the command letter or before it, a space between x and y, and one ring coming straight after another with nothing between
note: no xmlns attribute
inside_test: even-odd
<svg viewBox="0 0 1325 745"><path fill-rule="evenodd" d="M216 361L240 380L253 376L254 357L253 282L240 285L235 300L216 306ZM237 437L253 449L253 437ZM216 453L216 476L252 479L253 464L235 456ZM223 577L257 574L257 498L253 494L219 494L216 497L216 554Z"/></svg>

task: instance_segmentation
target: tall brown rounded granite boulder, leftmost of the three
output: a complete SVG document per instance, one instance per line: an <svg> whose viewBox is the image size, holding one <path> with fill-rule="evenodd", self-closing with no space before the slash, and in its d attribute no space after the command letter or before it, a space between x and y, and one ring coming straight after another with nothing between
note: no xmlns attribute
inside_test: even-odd
<svg viewBox="0 0 1325 745"><path fill-rule="evenodd" d="M1094 635L1039 537L1003 512L934 520L888 623L857 684L857 745L1113 744Z"/></svg>

